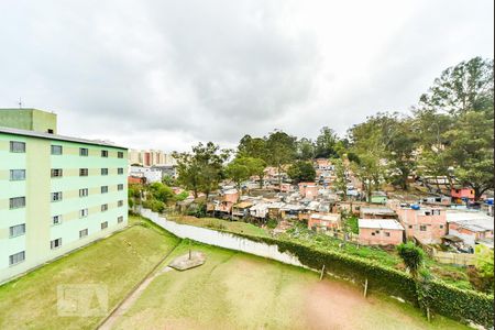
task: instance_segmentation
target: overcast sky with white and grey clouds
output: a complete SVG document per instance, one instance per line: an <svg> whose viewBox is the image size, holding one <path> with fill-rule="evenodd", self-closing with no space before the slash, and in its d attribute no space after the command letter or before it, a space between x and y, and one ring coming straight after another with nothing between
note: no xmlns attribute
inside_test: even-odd
<svg viewBox="0 0 495 330"><path fill-rule="evenodd" d="M339 134L493 57L493 0L0 1L0 108L129 147Z"/></svg>

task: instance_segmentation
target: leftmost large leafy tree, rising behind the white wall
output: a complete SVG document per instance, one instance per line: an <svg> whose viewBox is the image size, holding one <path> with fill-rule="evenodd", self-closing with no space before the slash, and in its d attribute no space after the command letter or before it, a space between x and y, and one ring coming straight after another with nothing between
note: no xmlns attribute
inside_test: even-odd
<svg viewBox="0 0 495 330"><path fill-rule="evenodd" d="M220 146L208 142L206 145L199 143L193 147L193 152L173 153L177 161L177 182L188 190L195 198L199 193L209 194L218 189L219 183L224 178L223 163L229 157L230 151L220 150Z"/></svg>

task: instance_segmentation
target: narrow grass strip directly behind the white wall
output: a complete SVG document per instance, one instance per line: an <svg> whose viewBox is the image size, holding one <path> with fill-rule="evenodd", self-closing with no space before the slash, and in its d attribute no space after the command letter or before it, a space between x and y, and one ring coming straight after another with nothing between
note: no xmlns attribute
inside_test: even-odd
<svg viewBox="0 0 495 330"><path fill-rule="evenodd" d="M175 221L177 223L205 227L234 233L243 233L255 237L268 237L267 231L263 228L242 221L229 221L217 218L196 218L190 216L167 216L167 220Z"/></svg>

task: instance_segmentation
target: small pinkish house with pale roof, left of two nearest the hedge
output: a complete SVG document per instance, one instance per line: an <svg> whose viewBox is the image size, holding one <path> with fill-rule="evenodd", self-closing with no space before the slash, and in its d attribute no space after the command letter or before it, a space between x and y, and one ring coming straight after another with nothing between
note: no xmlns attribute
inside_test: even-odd
<svg viewBox="0 0 495 330"><path fill-rule="evenodd" d="M404 227L394 219L360 219L360 244L397 245L404 242Z"/></svg>

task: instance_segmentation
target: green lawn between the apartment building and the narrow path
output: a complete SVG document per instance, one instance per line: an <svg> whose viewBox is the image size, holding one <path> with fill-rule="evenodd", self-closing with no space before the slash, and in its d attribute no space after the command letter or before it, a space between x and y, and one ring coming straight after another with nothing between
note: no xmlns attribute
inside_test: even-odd
<svg viewBox="0 0 495 330"><path fill-rule="evenodd" d="M0 286L0 329L92 329L102 317L57 316L57 286L102 284L111 309L178 242L143 222Z"/></svg>

